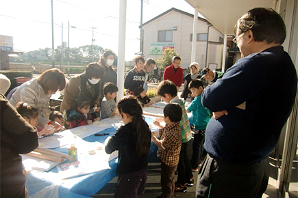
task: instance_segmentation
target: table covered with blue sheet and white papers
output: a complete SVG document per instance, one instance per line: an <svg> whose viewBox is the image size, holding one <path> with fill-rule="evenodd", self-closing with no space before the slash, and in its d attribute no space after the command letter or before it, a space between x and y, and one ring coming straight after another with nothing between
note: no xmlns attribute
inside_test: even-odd
<svg viewBox="0 0 298 198"><path fill-rule="evenodd" d="M145 115L152 126L154 117ZM95 195L116 176L118 153L105 154L104 141L114 135L123 123L120 116L103 119L95 124L79 126L40 139L40 147L67 153L70 145L77 147L78 162L64 161L62 165L49 160L35 160L23 155L27 173L28 196L33 197L89 197ZM95 134L107 133L104 136ZM100 147L102 148L100 150ZM151 142L149 154L156 155L158 147ZM89 152L93 151L92 154ZM57 165L57 166L56 166ZM64 166L67 168L64 170Z"/></svg>

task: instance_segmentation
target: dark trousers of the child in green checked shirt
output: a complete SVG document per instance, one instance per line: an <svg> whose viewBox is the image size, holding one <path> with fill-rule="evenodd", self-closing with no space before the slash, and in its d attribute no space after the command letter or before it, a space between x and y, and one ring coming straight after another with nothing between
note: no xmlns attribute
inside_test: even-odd
<svg viewBox="0 0 298 198"><path fill-rule="evenodd" d="M191 173L190 160L187 154L187 142L182 143L177 171L177 182L181 185L185 185L186 181L188 181L190 178L193 178L193 173Z"/></svg>

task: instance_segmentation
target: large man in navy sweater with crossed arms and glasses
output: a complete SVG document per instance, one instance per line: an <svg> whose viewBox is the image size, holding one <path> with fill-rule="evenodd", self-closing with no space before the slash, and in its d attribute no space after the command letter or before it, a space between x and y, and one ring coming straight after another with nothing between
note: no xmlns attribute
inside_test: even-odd
<svg viewBox="0 0 298 198"><path fill-rule="evenodd" d="M293 107L297 74L281 46L286 27L277 12L254 8L235 25L243 58L201 101L214 112L206 128L208 152L197 180L197 197L262 197L268 156Z"/></svg>

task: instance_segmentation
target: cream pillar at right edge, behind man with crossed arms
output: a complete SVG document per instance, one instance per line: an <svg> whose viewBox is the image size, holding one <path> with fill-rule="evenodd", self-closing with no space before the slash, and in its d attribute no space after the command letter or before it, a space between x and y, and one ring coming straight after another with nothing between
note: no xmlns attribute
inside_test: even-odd
<svg viewBox="0 0 298 198"><path fill-rule="evenodd" d="M280 5L277 10L283 10ZM290 55L296 71L298 71L298 20L297 13L298 4L295 0L286 1L286 12L284 15L284 23L286 24L286 40L284 41L284 51ZM297 137L298 137L298 90L293 105L292 113L288 117L286 123L286 135L284 139L284 149L282 153L282 166L280 167L277 178L277 186L284 197L289 197L289 186L292 178L292 167L294 156L297 152ZM281 141L281 140L280 140Z"/></svg>

